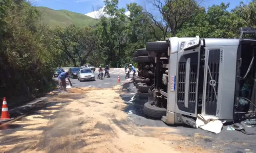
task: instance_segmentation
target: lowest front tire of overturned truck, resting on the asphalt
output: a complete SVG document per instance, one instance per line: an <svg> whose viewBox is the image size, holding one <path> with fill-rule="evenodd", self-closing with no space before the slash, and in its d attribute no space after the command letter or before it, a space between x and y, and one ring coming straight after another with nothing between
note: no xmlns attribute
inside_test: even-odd
<svg viewBox="0 0 256 153"><path fill-rule="evenodd" d="M151 101L144 104L144 114L149 117L160 119L162 116L166 115L166 109L155 107Z"/></svg>

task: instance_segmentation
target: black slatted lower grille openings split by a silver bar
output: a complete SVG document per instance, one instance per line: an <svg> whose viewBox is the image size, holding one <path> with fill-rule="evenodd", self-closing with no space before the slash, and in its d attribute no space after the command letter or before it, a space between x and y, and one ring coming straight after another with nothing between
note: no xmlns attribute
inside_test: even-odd
<svg viewBox="0 0 256 153"><path fill-rule="evenodd" d="M186 63L179 63L177 105L182 111L195 113L198 63L190 63L189 68L189 87L185 93ZM185 94L188 94L188 107L185 107Z"/></svg>

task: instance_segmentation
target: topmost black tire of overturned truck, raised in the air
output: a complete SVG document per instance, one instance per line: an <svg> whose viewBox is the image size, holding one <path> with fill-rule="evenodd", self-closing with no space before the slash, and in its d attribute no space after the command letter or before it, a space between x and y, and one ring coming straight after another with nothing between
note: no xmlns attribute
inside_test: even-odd
<svg viewBox="0 0 256 153"><path fill-rule="evenodd" d="M147 42L146 50L148 52L168 52L168 45L166 41Z"/></svg>

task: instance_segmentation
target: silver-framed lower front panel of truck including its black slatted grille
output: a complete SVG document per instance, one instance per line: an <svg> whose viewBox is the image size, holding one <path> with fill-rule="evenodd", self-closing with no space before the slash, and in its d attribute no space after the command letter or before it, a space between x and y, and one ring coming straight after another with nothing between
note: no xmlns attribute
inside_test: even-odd
<svg viewBox="0 0 256 153"><path fill-rule="evenodd" d="M178 54L176 113L196 117L200 47Z"/></svg>

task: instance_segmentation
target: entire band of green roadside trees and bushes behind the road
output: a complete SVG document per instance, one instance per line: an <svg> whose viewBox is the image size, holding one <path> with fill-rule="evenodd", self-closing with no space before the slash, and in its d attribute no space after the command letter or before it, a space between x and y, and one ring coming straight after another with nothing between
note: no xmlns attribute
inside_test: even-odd
<svg viewBox="0 0 256 153"><path fill-rule="evenodd" d="M118 0L104 2L108 17L98 14L93 26L51 28L27 1L0 1L0 97L16 105L47 92L54 87L51 77L57 66L133 63L134 51L148 41L196 35L234 38L240 27L256 27L255 0L232 10L224 3L205 9L201 1L150 0L160 16L136 3L118 8Z"/></svg>

